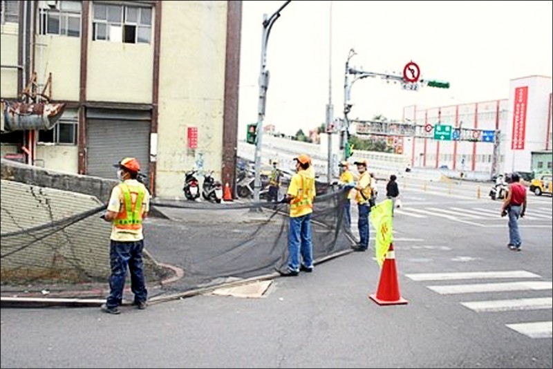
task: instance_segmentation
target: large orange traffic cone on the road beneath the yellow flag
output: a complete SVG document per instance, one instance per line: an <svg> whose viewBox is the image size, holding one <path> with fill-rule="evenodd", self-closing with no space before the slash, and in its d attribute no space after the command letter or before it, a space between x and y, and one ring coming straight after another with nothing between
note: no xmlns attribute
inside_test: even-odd
<svg viewBox="0 0 553 369"><path fill-rule="evenodd" d="M392 243L386 253L384 265L382 265L377 292L376 294L370 294L368 296L378 305L399 305L407 303L407 300L400 296L400 285L397 283L395 253Z"/></svg>

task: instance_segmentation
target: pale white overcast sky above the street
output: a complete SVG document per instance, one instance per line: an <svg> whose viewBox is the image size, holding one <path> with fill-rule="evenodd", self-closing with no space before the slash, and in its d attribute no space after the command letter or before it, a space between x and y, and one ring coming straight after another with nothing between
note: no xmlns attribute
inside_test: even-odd
<svg viewBox="0 0 553 369"><path fill-rule="evenodd" d="M238 138L257 120L263 14L285 1L243 1ZM414 61L424 86L405 91L380 78L351 89L350 118L401 120L404 106L448 106L507 98L509 79L551 76L552 1L301 1L274 22L267 48L270 73L264 126L294 135L326 120L328 100L343 117L344 72L350 67L401 75ZM332 11L330 11L332 10ZM350 81L353 76L350 76ZM330 91L331 92L330 92Z"/></svg>

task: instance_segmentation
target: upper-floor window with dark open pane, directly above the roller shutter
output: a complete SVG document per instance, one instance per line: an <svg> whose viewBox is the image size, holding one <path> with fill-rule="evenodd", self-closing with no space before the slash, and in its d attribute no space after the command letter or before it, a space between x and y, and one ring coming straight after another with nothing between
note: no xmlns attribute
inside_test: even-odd
<svg viewBox="0 0 553 369"><path fill-rule="evenodd" d="M151 8L94 3L93 41L149 44Z"/></svg>

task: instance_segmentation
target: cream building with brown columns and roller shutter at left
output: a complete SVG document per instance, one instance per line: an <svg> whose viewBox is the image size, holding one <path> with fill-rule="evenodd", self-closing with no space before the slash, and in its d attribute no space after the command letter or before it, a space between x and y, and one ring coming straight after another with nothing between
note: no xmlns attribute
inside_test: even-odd
<svg viewBox="0 0 553 369"><path fill-rule="evenodd" d="M151 192L183 197L185 171L234 186L241 1L1 1L0 97L34 73L66 104L48 131L0 135L1 156L114 178L133 156Z"/></svg>

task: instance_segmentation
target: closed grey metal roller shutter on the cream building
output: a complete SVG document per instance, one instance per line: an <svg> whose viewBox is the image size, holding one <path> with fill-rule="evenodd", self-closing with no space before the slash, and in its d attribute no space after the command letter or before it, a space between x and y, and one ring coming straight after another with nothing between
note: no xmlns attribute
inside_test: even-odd
<svg viewBox="0 0 553 369"><path fill-rule="evenodd" d="M88 120L88 175L115 179L113 164L137 158L148 176L150 122L142 120Z"/></svg>

